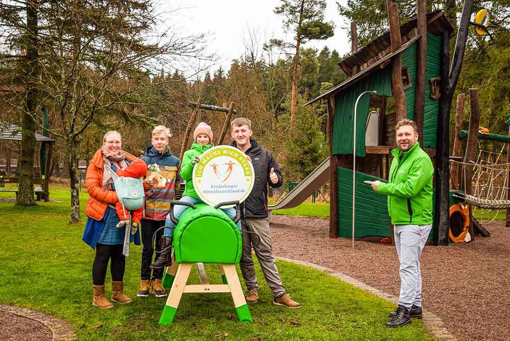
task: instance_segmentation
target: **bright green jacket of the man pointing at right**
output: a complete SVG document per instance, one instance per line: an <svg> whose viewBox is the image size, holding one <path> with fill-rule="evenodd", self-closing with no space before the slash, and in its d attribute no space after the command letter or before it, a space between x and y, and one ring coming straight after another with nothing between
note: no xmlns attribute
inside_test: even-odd
<svg viewBox="0 0 510 341"><path fill-rule="evenodd" d="M388 195L388 214L394 225L428 225L432 223L432 177L434 167L418 141L410 150L399 148L394 156L388 183L377 192Z"/></svg>

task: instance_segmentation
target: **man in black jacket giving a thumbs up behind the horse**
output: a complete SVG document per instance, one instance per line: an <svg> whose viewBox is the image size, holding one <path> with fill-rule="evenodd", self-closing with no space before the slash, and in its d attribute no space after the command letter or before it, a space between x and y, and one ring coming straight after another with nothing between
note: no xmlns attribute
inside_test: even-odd
<svg viewBox="0 0 510 341"><path fill-rule="evenodd" d="M257 276L250 251L252 240L250 234L246 233L253 232L260 236L260 242L253 247L253 250L257 255L267 284L273 292L273 303L289 308L300 308L301 304L293 301L282 285L282 279L272 254L271 234L269 220L267 219L267 186L281 187L284 182L282 174L271 153L261 148L257 141L250 138L253 134L250 120L237 118L232 121L231 128L232 138L234 139L232 146L239 148L248 156L255 171L253 189L241 204L241 223L244 233L243 256L240 267L248 289L246 301L255 303L259 298L259 286L257 285Z"/></svg>

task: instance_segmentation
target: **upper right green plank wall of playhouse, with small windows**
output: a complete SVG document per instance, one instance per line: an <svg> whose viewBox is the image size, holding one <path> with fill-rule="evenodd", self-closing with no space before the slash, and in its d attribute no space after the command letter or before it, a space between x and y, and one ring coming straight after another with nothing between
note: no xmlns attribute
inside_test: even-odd
<svg viewBox="0 0 510 341"><path fill-rule="evenodd" d="M416 49L413 44L402 52L402 67L407 67L411 77L412 87L406 89L405 104L407 105L407 118L414 120L415 94L416 94ZM423 117L423 146L436 148L436 135L438 129L439 99L430 97L430 78L440 76L441 37L427 33L427 71L425 80L425 112Z"/></svg>

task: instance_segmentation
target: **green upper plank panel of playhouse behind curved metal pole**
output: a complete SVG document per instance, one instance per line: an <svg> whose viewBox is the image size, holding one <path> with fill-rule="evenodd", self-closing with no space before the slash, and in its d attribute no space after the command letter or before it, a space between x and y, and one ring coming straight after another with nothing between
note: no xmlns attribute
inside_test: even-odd
<svg viewBox="0 0 510 341"><path fill-rule="evenodd" d="M379 96L391 96L391 67L371 73L335 96L333 154L352 154L354 104L362 92L369 90L377 90ZM358 102L356 115L356 155L362 157L365 156L365 125L369 105L370 94L365 94Z"/></svg>

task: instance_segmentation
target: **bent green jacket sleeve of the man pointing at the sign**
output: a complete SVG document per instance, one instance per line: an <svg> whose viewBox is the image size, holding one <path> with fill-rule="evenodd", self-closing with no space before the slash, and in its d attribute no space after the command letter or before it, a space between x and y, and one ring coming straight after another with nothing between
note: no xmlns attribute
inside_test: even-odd
<svg viewBox="0 0 510 341"><path fill-rule="evenodd" d="M404 182L399 184L380 183L377 193L405 198L416 196L425 187L434 172L428 162L429 160L424 157L417 159L409 169L409 174Z"/></svg>

